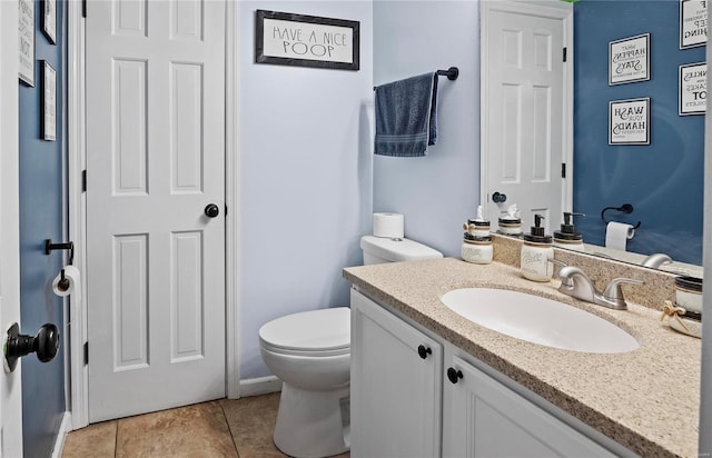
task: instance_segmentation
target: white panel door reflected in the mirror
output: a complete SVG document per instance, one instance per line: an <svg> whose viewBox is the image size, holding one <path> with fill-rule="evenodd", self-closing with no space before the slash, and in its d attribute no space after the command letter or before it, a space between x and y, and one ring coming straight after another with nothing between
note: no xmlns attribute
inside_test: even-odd
<svg viewBox="0 0 712 458"><path fill-rule="evenodd" d="M486 11L482 199L493 225L516 203L525 230L538 213L551 233L561 221L565 192L564 21L531 11ZM495 202L495 192L506 201Z"/></svg>

